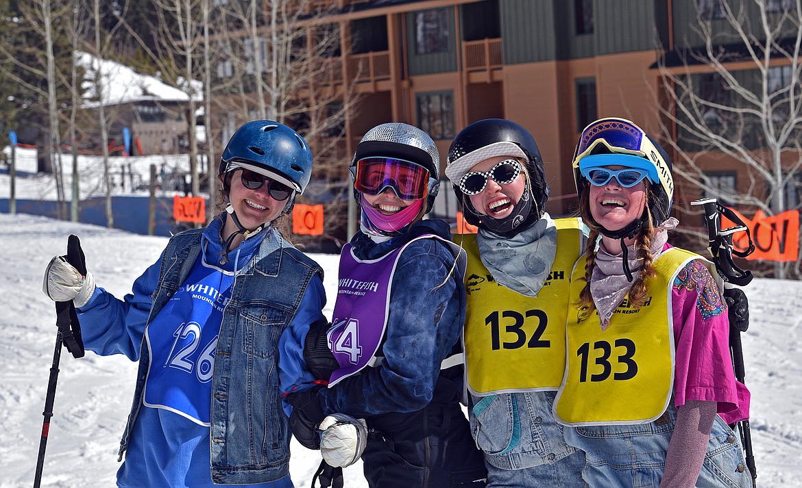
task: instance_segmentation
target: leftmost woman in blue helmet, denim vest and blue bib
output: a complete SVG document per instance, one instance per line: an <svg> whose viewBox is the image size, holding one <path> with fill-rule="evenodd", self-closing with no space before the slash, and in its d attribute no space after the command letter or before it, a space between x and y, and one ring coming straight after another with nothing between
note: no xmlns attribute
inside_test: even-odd
<svg viewBox="0 0 802 488"><path fill-rule="evenodd" d="M172 236L124 300L51 261L45 292L74 301L86 348L140 363L118 486L293 486L277 361L325 322L326 298L322 269L272 224L311 171L290 127L245 123L220 162L225 212Z"/></svg>

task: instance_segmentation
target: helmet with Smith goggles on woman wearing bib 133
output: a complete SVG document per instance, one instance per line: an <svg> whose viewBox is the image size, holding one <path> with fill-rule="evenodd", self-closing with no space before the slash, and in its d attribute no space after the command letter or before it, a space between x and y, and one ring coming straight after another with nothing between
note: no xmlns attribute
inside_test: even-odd
<svg viewBox="0 0 802 488"><path fill-rule="evenodd" d="M597 159L597 156L602 155L606 156L606 159ZM581 173L582 167L591 161L597 165L605 160L609 160L607 164L610 165L635 167L647 171L650 181L648 207L652 224L656 227L668 219L674 200L673 164L666 150L655 139L627 119L607 117L590 123L582 131L577 147L573 151L573 180L580 199L589 185ZM634 236L644 223L645 217L646 212L641 219L635 220L620 231L609 232L600 229L600 232L614 239Z"/></svg>

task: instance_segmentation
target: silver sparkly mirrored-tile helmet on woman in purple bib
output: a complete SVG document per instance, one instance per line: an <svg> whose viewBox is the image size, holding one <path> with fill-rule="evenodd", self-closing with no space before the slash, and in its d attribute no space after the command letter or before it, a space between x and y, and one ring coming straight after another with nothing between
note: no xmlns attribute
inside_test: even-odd
<svg viewBox="0 0 802 488"><path fill-rule="evenodd" d="M440 186L440 155L435 141L426 132L402 122L383 123L367 131L357 144L348 167L351 184L356 179L356 163L370 157L403 159L425 167L429 171L429 185L423 213L431 211ZM360 204L360 194L355 188L354 200Z"/></svg>

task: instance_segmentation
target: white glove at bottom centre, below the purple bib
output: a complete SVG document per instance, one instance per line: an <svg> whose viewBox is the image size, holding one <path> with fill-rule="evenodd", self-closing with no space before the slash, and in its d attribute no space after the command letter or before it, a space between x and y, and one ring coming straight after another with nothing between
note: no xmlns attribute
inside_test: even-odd
<svg viewBox="0 0 802 488"><path fill-rule="evenodd" d="M320 452L329 466L350 466L362 456L367 445L367 424L362 418L332 413L318 425L322 430Z"/></svg>

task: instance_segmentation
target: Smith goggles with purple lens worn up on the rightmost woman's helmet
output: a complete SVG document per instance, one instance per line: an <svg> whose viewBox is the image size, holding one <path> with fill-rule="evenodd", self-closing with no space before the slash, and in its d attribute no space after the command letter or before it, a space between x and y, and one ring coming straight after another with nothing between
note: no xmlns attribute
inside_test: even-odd
<svg viewBox="0 0 802 488"><path fill-rule="evenodd" d="M647 172L649 180L656 184L660 183L665 190L669 200L674 195L674 181L671 178L669 167L663 161L657 147L651 142L646 133L637 125L626 119L601 119L585 127L577 143L577 149L573 153L573 167L580 169L586 176L590 167L601 167L602 159L596 159L595 155L622 154L633 155L638 158L647 159L648 163L632 164L620 163L625 166L636 167ZM582 159L589 158L582 163ZM591 163L591 160L593 162ZM619 164L607 163L608 165Z"/></svg>

